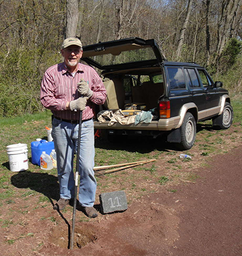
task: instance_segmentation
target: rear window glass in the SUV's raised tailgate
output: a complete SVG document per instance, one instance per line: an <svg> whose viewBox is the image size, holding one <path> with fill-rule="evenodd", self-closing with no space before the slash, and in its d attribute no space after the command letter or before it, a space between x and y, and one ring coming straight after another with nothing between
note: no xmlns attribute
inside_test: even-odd
<svg viewBox="0 0 242 256"><path fill-rule="evenodd" d="M98 62L102 66L110 66L129 62L147 61L156 59L156 57L152 48L140 48L136 50L121 51L116 54L105 54L105 51L103 51L102 55L93 56L90 57L90 59L93 59L93 61Z"/></svg>

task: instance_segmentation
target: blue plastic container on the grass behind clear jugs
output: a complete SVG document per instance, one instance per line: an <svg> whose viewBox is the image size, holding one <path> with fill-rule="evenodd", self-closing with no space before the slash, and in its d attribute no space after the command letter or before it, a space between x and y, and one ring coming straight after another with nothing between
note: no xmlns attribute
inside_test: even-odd
<svg viewBox="0 0 242 256"><path fill-rule="evenodd" d="M54 142L47 142L47 140L40 140L31 142L31 162L33 165L41 165L41 154L45 151L46 154L50 154L54 149Z"/></svg>

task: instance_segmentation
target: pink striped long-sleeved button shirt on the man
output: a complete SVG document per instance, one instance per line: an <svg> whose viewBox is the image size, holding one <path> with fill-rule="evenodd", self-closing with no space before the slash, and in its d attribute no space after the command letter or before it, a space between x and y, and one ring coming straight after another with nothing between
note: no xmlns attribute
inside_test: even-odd
<svg viewBox="0 0 242 256"><path fill-rule="evenodd" d="M83 64L78 64L77 72L73 77L65 67L64 62L56 64L45 71L41 84L41 103L51 110L56 117L68 120L78 120L79 111L67 110L67 102L80 97L77 83L83 78L88 82L93 96L88 99L85 110L82 111L82 120L94 116L94 105L102 105L106 100L106 90L96 71Z"/></svg>

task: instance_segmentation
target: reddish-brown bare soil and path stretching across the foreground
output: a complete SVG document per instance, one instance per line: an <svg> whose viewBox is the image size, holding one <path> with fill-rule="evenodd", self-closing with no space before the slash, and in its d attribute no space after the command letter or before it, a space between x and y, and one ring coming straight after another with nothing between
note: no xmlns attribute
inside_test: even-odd
<svg viewBox="0 0 242 256"><path fill-rule="evenodd" d="M141 197L129 193L124 212L99 213L90 220L77 211L73 250L68 249L71 206L54 211L56 194L53 201L38 207L38 195L18 197L1 209L1 219L7 220L11 211L15 224L1 223L1 255L242 255L242 146L238 138L234 148L227 145L227 153L209 157L198 168L194 164L189 169L194 180L179 182L172 189L155 186L154 192ZM157 159L155 165L162 169L164 162ZM129 169L126 175L132 172Z"/></svg>

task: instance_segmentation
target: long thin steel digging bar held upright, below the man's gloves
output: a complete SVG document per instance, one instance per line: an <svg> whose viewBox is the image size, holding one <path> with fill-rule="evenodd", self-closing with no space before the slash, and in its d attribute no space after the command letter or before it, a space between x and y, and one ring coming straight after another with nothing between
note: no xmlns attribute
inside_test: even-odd
<svg viewBox="0 0 242 256"><path fill-rule="evenodd" d="M76 198L77 198L77 186L78 186L78 174L79 174L79 157L80 157L80 134L82 133L82 110L80 111L79 119L79 130L77 140L77 155L76 155L76 174L75 174L75 194L74 194L74 205L73 205L73 217L72 217L72 228L71 228L71 250L74 245L74 232L76 222Z"/></svg>

